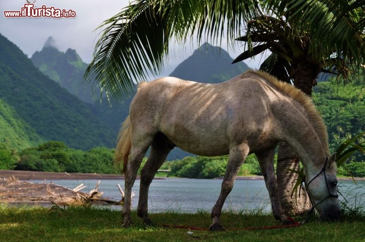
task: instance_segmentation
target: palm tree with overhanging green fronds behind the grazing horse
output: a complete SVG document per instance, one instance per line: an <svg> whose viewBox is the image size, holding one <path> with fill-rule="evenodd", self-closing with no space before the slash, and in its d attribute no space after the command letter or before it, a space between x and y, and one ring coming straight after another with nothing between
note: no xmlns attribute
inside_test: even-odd
<svg viewBox="0 0 365 242"><path fill-rule="evenodd" d="M188 39L206 38L221 45L225 35L234 46L245 27L246 35L238 39L247 42L248 50L236 61L270 50L272 55L261 68L280 79L294 80L310 95L320 71L346 77L354 63L363 62L364 2L264 0L259 5L252 0L137 0L99 27L102 33L85 77L106 95L118 98L133 88L133 80L162 70L173 39L186 44ZM279 159L279 174L298 167L291 154Z"/></svg>

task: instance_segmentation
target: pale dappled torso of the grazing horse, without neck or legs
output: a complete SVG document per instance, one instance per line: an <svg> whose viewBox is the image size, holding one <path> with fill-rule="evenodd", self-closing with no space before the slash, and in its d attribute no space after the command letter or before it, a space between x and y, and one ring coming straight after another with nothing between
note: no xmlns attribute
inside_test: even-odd
<svg viewBox="0 0 365 242"><path fill-rule="evenodd" d="M250 142L254 149L276 141L270 105L278 100L286 98L250 72L221 84L163 77L139 86L131 125L143 133L161 132L192 153L228 154L234 143Z"/></svg>

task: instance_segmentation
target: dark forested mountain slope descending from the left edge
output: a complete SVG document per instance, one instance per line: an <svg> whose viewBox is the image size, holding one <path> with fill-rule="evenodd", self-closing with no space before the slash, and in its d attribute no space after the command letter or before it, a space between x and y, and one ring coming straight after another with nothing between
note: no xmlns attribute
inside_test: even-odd
<svg viewBox="0 0 365 242"><path fill-rule="evenodd" d="M0 98L17 113L22 120L19 122L24 121L40 137L28 136L30 140L59 140L84 150L115 146L114 132L88 105L34 67L31 60L1 34L0 83ZM5 115L2 113L2 116Z"/></svg>

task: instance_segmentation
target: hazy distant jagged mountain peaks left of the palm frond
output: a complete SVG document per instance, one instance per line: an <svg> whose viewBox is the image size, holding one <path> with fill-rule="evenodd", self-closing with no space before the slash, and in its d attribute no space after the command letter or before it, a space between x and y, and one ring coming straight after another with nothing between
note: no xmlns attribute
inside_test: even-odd
<svg viewBox="0 0 365 242"><path fill-rule="evenodd" d="M84 82L87 64L82 61L76 50L60 52L49 37L41 51L36 51L31 61L45 75L57 82L71 94L84 102L92 103L91 87Z"/></svg>

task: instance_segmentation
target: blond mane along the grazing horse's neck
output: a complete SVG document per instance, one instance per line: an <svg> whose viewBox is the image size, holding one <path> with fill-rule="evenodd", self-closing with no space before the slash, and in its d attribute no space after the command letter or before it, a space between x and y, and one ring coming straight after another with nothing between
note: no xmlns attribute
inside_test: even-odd
<svg viewBox="0 0 365 242"><path fill-rule="evenodd" d="M257 74L260 77L264 78L265 80L268 80L279 91L286 94L286 96L293 98L294 100L296 100L298 103L300 103L304 107L304 109L306 110L306 114L309 119L309 122L312 125L315 132L317 133L318 138L322 143L322 148L324 150L324 153L327 156L330 156L327 128L326 128L326 126L323 122L323 119L322 119L321 115L319 114L317 108L313 104L312 99L308 95L303 93L301 90L294 87L293 85L282 82L267 72L259 71L259 70L255 70L255 71L249 70L248 72Z"/></svg>

